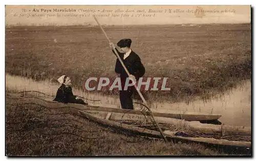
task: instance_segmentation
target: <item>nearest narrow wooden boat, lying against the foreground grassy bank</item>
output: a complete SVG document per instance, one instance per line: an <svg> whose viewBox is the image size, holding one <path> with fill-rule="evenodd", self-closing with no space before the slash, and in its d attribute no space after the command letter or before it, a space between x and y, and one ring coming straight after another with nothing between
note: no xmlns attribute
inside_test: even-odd
<svg viewBox="0 0 256 161"><path fill-rule="evenodd" d="M89 113L90 112L90 113ZM79 111L79 113L97 123L103 124L103 125L108 125L112 126L115 128L121 128L124 130L131 130L135 131L136 133L141 133L144 135L151 135L151 136L158 136L159 138L161 137L161 134L159 131L155 129L150 129L147 124L130 124L127 122L127 120L110 120L112 113L108 113L105 117L103 115L98 115L95 116L93 115L93 111ZM96 114L96 113L94 113ZM121 121L121 122L120 122ZM124 121L124 122L122 122ZM130 120L131 121L131 120ZM161 127L162 128L162 127ZM201 143L206 143L206 144L213 144L213 145L222 145L222 146L235 146L235 147L251 147L251 141L250 141L250 136L244 136L244 140L242 141L235 141L233 140L232 137L225 139L220 139L221 137L214 137L214 136L199 136L199 133L197 137L192 137L192 136L184 136L186 133L182 133L181 131L177 130L172 130L172 127L168 129L168 127L165 126L163 133L164 137L168 139L178 139L178 140L185 140L185 141L193 141L193 142L201 142ZM241 137L241 136L240 136Z"/></svg>

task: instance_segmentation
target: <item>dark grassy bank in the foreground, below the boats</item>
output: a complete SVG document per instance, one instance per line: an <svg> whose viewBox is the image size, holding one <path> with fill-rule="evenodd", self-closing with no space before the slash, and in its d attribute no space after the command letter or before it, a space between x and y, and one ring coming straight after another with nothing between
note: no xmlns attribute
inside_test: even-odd
<svg viewBox="0 0 256 161"><path fill-rule="evenodd" d="M96 124L73 114L71 108L15 100L7 91L6 155L91 156L91 155L227 155L222 149L196 143L142 138ZM238 154L236 152L231 154Z"/></svg>

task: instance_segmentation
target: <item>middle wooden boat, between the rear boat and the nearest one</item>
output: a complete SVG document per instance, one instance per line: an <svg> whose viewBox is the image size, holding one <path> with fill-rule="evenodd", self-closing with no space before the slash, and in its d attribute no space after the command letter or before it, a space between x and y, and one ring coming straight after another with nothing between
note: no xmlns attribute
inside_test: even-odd
<svg viewBox="0 0 256 161"><path fill-rule="evenodd" d="M109 113L101 111L84 111L95 117L101 119L108 119L112 121L140 121L142 123L153 122L151 116L137 115L137 114L123 114L123 113ZM165 117L154 117L158 123L165 125L172 125L180 127L183 130L196 130L206 135L219 135L219 136L250 136L251 128L244 126L228 126L228 125L214 125L204 124L199 121L185 121L180 119L165 118Z"/></svg>

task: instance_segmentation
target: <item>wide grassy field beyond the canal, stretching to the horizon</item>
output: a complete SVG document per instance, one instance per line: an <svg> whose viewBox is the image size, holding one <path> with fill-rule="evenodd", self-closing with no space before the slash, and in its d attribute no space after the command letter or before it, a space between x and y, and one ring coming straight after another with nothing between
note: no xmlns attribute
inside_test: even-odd
<svg viewBox="0 0 256 161"><path fill-rule="evenodd" d="M208 99L251 78L250 24L105 27L116 43L133 40L144 77L168 77L171 91L151 100ZM116 77L116 57L98 27L18 26L6 29L6 72L35 80L68 74L82 89L89 77ZM117 94L117 91L100 91Z"/></svg>

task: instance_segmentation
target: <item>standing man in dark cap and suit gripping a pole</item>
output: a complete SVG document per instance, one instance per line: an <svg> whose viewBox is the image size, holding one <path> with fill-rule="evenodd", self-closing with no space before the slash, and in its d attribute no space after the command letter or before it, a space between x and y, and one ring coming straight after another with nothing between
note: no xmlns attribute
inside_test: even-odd
<svg viewBox="0 0 256 161"><path fill-rule="evenodd" d="M136 91L134 86L130 86L127 90L124 90L124 85L126 78L135 78L136 81L139 80L145 74L145 68L141 63L140 57L131 49L132 40L131 39L122 39L117 43L117 46L120 48L119 52L117 49L117 53L120 56L123 64L129 71L130 75L127 75L124 68L122 67L121 62L117 58L115 72L120 74L121 79L121 87L122 90L119 91L119 98L121 102L122 109L133 110L133 99L132 96ZM115 53L114 48L115 45L111 42L110 46L112 51ZM117 56L116 56L117 57ZM130 81L132 83L132 81Z"/></svg>

